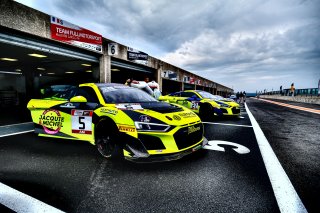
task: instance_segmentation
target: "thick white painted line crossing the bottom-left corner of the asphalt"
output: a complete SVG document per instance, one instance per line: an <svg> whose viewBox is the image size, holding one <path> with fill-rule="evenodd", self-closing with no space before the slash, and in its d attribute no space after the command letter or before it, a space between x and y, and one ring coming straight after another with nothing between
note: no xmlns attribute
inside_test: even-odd
<svg viewBox="0 0 320 213"><path fill-rule="evenodd" d="M63 212L3 183L0 183L0 203L15 212Z"/></svg>

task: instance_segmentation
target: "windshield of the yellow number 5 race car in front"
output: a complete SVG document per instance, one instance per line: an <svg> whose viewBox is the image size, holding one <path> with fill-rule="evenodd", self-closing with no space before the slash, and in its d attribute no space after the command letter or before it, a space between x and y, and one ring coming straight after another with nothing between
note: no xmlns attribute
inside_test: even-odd
<svg viewBox="0 0 320 213"><path fill-rule="evenodd" d="M147 103L157 102L148 93L132 87L99 87L106 103Z"/></svg>

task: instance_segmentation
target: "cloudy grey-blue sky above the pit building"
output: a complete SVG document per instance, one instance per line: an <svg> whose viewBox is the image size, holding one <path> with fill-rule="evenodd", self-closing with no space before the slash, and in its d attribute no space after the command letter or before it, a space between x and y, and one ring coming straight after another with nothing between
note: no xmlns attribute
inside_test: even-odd
<svg viewBox="0 0 320 213"><path fill-rule="evenodd" d="M315 88L320 0L19 0L235 91Z"/></svg>

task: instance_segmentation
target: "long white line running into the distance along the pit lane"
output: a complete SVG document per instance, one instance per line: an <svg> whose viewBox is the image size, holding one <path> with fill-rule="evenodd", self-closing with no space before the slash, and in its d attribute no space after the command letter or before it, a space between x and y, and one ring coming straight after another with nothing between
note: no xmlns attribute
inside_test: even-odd
<svg viewBox="0 0 320 213"><path fill-rule="evenodd" d="M258 122L245 104L281 212L307 212Z"/></svg>

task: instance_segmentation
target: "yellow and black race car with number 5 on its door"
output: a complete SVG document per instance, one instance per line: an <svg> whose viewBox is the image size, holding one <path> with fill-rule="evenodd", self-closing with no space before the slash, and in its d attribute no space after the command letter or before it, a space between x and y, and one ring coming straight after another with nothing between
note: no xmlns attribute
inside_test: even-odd
<svg viewBox="0 0 320 213"><path fill-rule="evenodd" d="M84 140L102 156L135 162L179 159L206 140L200 118L121 84L86 83L28 103L39 136Z"/></svg>

